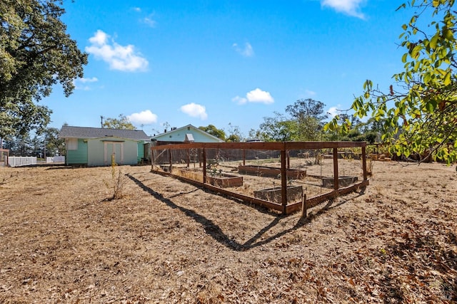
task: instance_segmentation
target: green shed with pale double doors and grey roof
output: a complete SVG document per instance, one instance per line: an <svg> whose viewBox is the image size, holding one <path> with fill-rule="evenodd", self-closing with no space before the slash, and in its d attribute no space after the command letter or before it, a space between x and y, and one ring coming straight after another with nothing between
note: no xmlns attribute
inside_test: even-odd
<svg viewBox="0 0 457 304"><path fill-rule="evenodd" d="M150 137L142 130L63 126L59 138L65 139L66 164L89 167L138 164L144 158L144 143Z"/></svg>

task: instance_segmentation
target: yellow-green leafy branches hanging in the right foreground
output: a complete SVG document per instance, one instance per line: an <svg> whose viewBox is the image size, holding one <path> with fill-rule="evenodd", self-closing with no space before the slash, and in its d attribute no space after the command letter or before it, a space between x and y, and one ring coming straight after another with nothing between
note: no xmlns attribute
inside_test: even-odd
<svg viewBox="0 0 457 304"><path fill-rule="evenodd" d="M363 95L354 100L358 117L370 116L382 122L381 141L398 155L432 154L448 163L457 160L457 61L456 11L454 0L423 0L402 4L398 9L414 10L403 24L401 46L406 52L404 70L393 75L395 86L382 90L366 80ZM431 16L428 27L422 19ZM347 133L351 123L338 124L338 117L326 129Z"/></svg>

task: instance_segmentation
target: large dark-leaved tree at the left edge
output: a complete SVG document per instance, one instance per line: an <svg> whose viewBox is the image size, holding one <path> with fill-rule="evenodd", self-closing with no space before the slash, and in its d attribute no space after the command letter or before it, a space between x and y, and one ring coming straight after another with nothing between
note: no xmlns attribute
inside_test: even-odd
<svg viewBox="0 0 457 304"><path fill-rule="evenodd" d="M45 127L51 110L36 102L57 83L69 96L83 76L87 54L66 33L61 4L0 1L0 137Z"/></svg>

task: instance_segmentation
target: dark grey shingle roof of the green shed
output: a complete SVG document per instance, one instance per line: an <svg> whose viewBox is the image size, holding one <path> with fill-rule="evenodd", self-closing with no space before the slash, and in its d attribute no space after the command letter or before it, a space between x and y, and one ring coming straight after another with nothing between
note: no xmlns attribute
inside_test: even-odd
<svg viewBox="0 0 457 304"><path fill-rule="evenodd" d="M121 137L129 140L151 140L143 130L119 130L101 127L71 127L64 125L60 132L61 138L100 138L100 137Z"/></svg>

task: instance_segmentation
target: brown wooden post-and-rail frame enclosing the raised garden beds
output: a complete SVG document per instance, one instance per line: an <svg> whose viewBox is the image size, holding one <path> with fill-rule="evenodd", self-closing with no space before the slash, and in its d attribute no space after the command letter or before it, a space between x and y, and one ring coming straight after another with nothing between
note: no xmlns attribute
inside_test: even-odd
<svg viewBox="0 0 457 304"><path fill-rule="evenodd" d="M361 182L351 184L348 187L340 187L338 178L338 148L358 147L361 148L361 166L363 170L363 180ZM306 198L306 195L303 195L301 201L288 204L288 169L290 169L289 151L323 149L332 151L333 190L331 192L309 198ZM176 150L185 150L186 152L181 154L185 155L185 157L181 156L179 157L180 159L172 159L172 152ZM211 167L211 165L214 163L214 158L207 158L207 152L209 150L240 150L243 165L246 162L246 152L250 150L276 152L281 162L281 168L278 168L280 170L278 177L281 179L281 201L274 202L268 201L266 199L259 199L253 196L246 196L237 192L223 189L221 187L216 187L213 184L209 184L206 168ZM201 174L203 174L203 182L182 177L178 174L173 173L174 163L186 164L188 168L191 167L191 151L196 155L193 160L194 166L198 158L199 167L203 168L201 172ZM167 161L161 162L160 160L164 159L164 155L166 156ZM239 160L241 161L241 159ZM306 214L306 209L321 204L323 201L332 199L336 196L356 191L356 189L366 187L369 184L368 172L366 169L366 142L190 142L171 145L156 145L151 147L151 172L175 177L177 179L183 180L184 182L196 184L197 186L203 187L204 189L209 189L220 194L233 196L236 199L241 199L253 204L265 206L269 209L281 211L283 214L291 214L292 212L298 211L300 209L304 209L303 211L305 211Z"/></svg>

